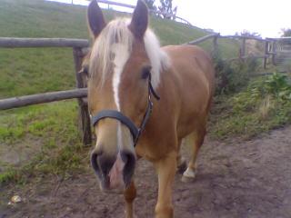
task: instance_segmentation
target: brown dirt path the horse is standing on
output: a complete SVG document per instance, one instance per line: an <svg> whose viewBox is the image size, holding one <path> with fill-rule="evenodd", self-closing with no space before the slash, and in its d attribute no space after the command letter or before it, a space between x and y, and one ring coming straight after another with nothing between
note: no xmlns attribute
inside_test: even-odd
<svg viewBox="0 0 291 218"><path fill-rule="evenodd" d="M249 142L206 140L195 183L176 175L175 217L290 218L291 126ZM185 152L186 153L186 152ZM136 172L135 215L153 217L156 175L141 161ZM93 173L59 182L35 183L25 190L0 190L0 218L5 217L125 217L121 195L100 193ZM24 203L7 206L19 193Z"/></svg>

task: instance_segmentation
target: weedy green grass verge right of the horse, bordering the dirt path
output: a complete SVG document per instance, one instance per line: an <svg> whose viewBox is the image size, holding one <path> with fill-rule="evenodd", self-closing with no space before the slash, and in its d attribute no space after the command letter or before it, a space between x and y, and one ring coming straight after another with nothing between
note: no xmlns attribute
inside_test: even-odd
<svg viewBox="0 0 291 218"><path fill-rule="evenodd" d="M270 92L269 78L251 81L240 93L216 96L209 122L213 138L249 139L291 124L291 84L289 96L282 97L279 94L286 88L276 88L278 94Z"/></svg>

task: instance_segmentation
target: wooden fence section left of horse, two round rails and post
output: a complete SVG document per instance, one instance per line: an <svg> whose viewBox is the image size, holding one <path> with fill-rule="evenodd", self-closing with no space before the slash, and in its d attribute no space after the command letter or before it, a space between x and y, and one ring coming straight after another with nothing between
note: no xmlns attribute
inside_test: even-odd
<svg viewBox="0 0 291 218"><path fill-rule="evenodd" d="M32 94L21 97L13 97L0 100L0 110L11 109L31 104L42 104L64 99L77 98L79 104L79 128L82 133L84 144L91 144L91 126L88 107L85 101L87 90L81 74L78 72L82 67L85 55L83 49L89 46L88 40L69 38L0 38L0 48L28 48L28 47L72 47L75 61L76 89L65 90L45 94Z"/></svg>

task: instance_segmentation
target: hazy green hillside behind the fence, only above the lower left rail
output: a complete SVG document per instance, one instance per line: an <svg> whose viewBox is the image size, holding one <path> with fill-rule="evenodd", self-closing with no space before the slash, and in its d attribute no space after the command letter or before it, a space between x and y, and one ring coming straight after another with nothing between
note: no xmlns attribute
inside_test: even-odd
<svg viewBox="0 0 291 218"><path fill-rule="evenodd" d="M42 0L2 0L1 37L88 38L86 7ZM126 15L105 11L107 20ZM173 21L152 18L151 27L162 45L182 44L206 32ZM204 44L210 50L210 44ZM232 54L233 45L221 43L221 50ZM1 49L0 98L21 94L72 88L75 86L71 49ZM44 85L45 84L45 85Z"/></svg>

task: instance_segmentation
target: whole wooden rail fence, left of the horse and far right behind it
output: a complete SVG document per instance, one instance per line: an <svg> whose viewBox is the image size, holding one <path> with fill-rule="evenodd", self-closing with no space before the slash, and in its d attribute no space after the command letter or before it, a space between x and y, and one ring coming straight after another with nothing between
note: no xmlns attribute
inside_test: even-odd
<svg viewBox="0 0 291 218"><path fill-rule="evenodd" d="M188 42L188 45L198 45L207 40L213 41L213 51L214 55L218 51L217 41L220 38L236 38L241 41L239 56L232 59L227 59L227 61L234 60L244 60L249 56L246 55L246 40L257 40L265 44L264 54L259 56L253 56L256 58L264 59L264 66L266 67L266 61L271 58L272 63L276 64L276 39L261 39L249 36L237 36L228 35L222 36L219 34L206 35L204 37L198 38L194 41ZM88 112L88 106L86 102L87 89L85 88L85 81L82 74L78 72L82 67L82 60L86 54L87 47L89 46L88 40L85 39L68 39L68 38L0 38L0 48L24 48L24 47L72 47L73 56L75 61L75 81L76 89L65 90L59 92L51 92L45 94L32 94L20 97L13 97L0 100L0 110L11 109L15 107L21 107L31 104L43 104L48 102L60 101L65 99L77 98L79 104L79 128L82 134L82 140L84 144L92 143L91 126L90 126L90 116Z"/></svg>

